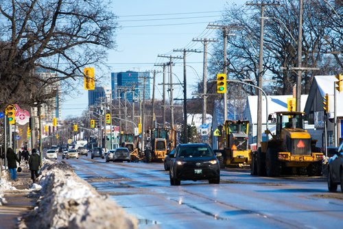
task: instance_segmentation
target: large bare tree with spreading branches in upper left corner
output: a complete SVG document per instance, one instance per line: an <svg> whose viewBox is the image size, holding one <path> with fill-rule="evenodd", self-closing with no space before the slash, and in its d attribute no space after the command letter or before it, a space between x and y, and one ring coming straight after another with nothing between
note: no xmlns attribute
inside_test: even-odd
<svg viewBox="0 0 343 229"><path fill-rule="evenodd" d="M104 64L117 29L108 3L0 0L1 109L54 96L43 88L60 81L73 86L84 67ZM39 77L37 69L57 75Z"/></svg>

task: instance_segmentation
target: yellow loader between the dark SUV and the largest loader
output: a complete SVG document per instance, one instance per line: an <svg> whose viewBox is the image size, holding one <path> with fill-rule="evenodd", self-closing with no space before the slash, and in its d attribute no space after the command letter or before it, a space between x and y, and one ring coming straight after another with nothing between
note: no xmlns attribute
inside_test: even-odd
<svg viewBox="0 0 343 229"><path fill-rule="evenodd" d="M226 120L222 127L222 153L220 167L226 165L250 165L251 150L248 149L249 121Z"/></svg>

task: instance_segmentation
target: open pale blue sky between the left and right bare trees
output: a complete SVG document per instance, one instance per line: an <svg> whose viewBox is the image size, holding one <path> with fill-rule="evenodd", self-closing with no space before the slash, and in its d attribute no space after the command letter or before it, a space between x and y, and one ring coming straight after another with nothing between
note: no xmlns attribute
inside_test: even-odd
<svg viewBox="0 0 343 229"><path fill-rule="evenodd" d="M202 43L192 42L192 39L215 38L215 29L206 29L206 26L209 23L220 20L222 11L233 3L244 5L246 1L113 0L113 5L109 7L119 16L117 21L121 28L117 31L117 50L108 51L110 72L128 70L151 71L154 69L162 71L162 67L154 67L154 63L167 62L167 58L158 58L158 54L181 56L182 53L173 52L172 50L183 48L202 51ZM211 45L209 45L209 51L211 51ZM187 67L187 97L192 97L191 91L193 91L196 82L202 78L202 58L202 53L187 55L187 65L193 67L193 69ZM179 64L176 63L173 72L178 76L180 82L182 82L182 60L178 62ZM108 77L106 77L102 86L110 86L110 73L106 75ZM173 81L178 82L178 79L174 78ZM156 77L156 84L160 84L161 82L162 75L160 73ZM80 84L79 88L80 93L77 96L74 95L76 98L64 98L66 101L62 104L63 118L69 115L78 116L82 113L82 110L86 110L88 94L82 90L83 84ZM161 97L162 86L156 86L156 98L161 99ZM181 86L175 86L174 97L182 97Z"/></svg>

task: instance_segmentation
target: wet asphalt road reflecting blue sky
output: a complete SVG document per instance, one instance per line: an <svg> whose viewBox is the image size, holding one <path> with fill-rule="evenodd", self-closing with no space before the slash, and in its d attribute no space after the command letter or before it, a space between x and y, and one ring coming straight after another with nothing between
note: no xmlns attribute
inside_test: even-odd
<svg viewBox="0 0 343 229"><path fill-rule="evenodd" d="M66 160L99 193L110 195L139 228L342 228L343 194L324 178L250 176L224 169L220 184L170 186L162 163Z"/></svg>

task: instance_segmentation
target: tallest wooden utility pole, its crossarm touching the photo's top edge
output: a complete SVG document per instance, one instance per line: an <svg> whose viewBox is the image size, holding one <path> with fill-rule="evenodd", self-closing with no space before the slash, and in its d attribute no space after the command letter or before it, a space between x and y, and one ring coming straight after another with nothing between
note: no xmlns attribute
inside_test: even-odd
<svg viewBox="0 0 343 229"><path fill-rule="evenodd" d="M259 36L259 88L263 87L263 30L264 30L264 10L266 5L279 6L276 3L246 3L246 5L261 6L261 27ZM268 120L265 120L267 123ZM261 145L262 141L262 92L258 91L257 101L257 147Z"/></svg>

